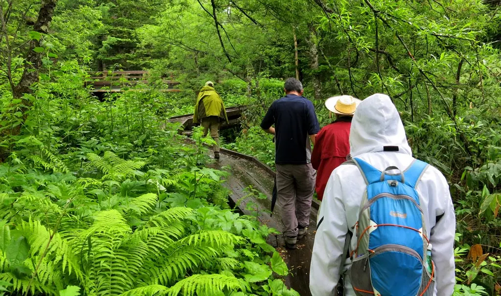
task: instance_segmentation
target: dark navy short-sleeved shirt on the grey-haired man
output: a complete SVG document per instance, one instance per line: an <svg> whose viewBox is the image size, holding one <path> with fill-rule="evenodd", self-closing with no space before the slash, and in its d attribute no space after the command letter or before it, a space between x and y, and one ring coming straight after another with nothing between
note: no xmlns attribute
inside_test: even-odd
<svg viewBox="0 0 501 296"><path fill-rule="evenodd" d="M261 128L275 124L275 163L306 164L311 161L309 135L320 131L313 103L304 96L288 94L272 103Z"/></svg>

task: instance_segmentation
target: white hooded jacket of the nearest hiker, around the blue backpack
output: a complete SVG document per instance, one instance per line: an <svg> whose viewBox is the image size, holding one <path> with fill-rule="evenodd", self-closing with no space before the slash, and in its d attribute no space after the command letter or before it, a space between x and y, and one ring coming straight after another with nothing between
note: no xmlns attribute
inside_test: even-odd
<svg viewBox="0 0 501 296"><path fill-rule="evenodd" d="M358 106L350 129L350 156L381 171L388 166L405 169L415 159L398 111L387 95L373 94ZM358 221L365 189L366 182L356 165L340 165L327 182L310 267L313 296L336 295L341 275L345 295L355 295L347 272L351 259L346 258L343 251L348 233ZM455 215L449 186L442 173L430 165L423 172L416 191L424 213L426 234L432 244L431 257L436 270L433 295L450 296L455 282ZM356 248L356 235L350 244L350 249Z"/></svg>

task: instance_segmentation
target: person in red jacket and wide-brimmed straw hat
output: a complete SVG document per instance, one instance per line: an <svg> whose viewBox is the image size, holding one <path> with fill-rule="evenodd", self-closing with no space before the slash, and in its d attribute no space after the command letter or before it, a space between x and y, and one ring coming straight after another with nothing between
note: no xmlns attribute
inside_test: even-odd
<svg viewBox="0 0 501 296"><path fill-rule="evenodd" d="M333 96L325 101L330 114L336 114L336 120L324 127L317 134L312 152L312 166L317 170L315 190L322 200L325 186L334 168L346 161L350 153L350 127L355 109L361 102L351 95Z"/></svg>

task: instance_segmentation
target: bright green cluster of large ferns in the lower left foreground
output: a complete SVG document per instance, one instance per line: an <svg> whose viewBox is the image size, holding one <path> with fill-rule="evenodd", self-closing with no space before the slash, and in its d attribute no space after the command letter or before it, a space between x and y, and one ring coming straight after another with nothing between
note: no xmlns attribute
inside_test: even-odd
<svg viewBox="0 0 501 296"><path fill-rule="evenodd" d="M222 277L194 276L190 284L186 279L181 281L184 285L176 284L187 273L202 270L206 262L217 258L225 268L234 267L236 260L224 260L221 256L225 249L242 244L244 239L223 230L189 233L192 209L174 207L155 213L157 202L156 194L143 194L124 202L121 210L95 212L87 222L80 221L80 227L74 216L64 216L61 224L65 227L56 232L39 220L21 221L15 230L21 231L30 244L25 264L31 276L19 278L9 272L5 253L1 253L0 280L13 282L17 290L29 288L47 294L62 289L67 277L83 286L89 295L119 295L128 291L131 294L131 290L141 286L163 286L166 293L175 295L174 291L184 291L185 285L195 285L194 290L228 286L221 282L232 282L230 286L235 288L238 281L234 277L228 281ZM62 213L57 205L55 208L55 213ZM133 229L128 223L132 218L139 218L142 226ZM74 227L69 228L72 224ZM174 289L166 288L172 285Z"/></svg>

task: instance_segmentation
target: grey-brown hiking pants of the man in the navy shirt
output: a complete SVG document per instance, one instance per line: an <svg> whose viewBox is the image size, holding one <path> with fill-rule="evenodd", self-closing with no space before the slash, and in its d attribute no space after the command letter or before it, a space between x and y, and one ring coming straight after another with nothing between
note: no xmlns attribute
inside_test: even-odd
<svg viewBox="0 0 501 296"><path fill-rule="evenodd" d="M311 163L277 164L277 201L282 208L284 235L297 236L310 224L316 171Z"/></svg>

